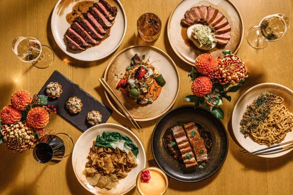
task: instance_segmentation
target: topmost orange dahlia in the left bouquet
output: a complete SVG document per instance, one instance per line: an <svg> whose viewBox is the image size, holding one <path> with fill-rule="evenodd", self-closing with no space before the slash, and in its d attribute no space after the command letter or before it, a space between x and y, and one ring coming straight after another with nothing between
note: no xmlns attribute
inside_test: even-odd
<svg viewBox="0 0 293 195"><path fill-rule="evenodd" d="M25 110L26 106L32 102L32 95L25 90L17 90L10 98L11 104L17 110Z"/></svg>

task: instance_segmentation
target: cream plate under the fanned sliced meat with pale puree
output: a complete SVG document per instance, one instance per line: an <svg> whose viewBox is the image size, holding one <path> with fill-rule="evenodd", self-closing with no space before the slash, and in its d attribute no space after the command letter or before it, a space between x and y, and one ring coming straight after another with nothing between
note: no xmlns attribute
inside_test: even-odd
<svg viewBox="0 0 293 195"><path fill-rule="evenodd" d="M184 14L191 7L196 5L212 6L218 9L228 19L231 25L231 38L226 45L219 45L212 50L204 51L198 49L186 36L180 24ZM188 63L194 65L195 59L203 54L210 53L215 57L222 56L222 52L230 50L234 54L238 51L244 34L242 17L238 9L229 0L182 0L172 11L167 25L167 35L170 45L177 56Z"/></svg>

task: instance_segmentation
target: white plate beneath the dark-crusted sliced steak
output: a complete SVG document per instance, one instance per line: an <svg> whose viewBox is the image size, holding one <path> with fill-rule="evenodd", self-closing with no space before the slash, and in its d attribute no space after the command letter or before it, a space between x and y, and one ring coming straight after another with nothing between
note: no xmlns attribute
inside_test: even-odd
<svg viewBox="0 0 293 195"><path fill-rule="evenodd" d="M103 40L100 45L87 48L82 52L74 52L68 49L66 39L64 39L65 32L70 26L65 17L66 14L72 11L72 7L78 1L81 0L59 0L56 3L51 18L51 30L53 37L62 51L74 59L82 61L103 59L112 54L118 48L125 36L126 14L124 8L119 0L108 0L111 5L117 6L118 9L115 23L111 27L110 37Z"/></svg>

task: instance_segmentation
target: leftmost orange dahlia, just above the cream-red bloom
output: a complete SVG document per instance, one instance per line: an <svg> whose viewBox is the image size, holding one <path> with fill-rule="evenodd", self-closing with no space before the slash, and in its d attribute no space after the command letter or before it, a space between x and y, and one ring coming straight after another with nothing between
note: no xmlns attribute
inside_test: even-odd
<svg viewBox="0 0 293 195"><path fill-rule="evenodd" d="M21 111L12 105L5 106L1 111L1 119L5 124L13 124L21 120Z"/></svg>

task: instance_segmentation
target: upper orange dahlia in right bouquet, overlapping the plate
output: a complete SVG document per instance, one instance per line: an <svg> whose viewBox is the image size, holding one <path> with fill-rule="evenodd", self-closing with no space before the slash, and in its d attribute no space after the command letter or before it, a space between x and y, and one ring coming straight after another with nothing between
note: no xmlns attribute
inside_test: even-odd
<svg viewBox="0 0 293 195"><path fill-rule="evenodd" d="M218 61L210 54L202 54L196 58L195 68L203 75L212 76L218 70Z"/></svg>

